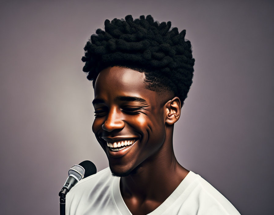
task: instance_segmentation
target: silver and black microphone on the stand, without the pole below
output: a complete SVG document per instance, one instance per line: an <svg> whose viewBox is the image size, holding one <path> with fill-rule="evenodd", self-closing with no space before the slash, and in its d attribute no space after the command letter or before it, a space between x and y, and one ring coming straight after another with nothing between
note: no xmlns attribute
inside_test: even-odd
<svg viewBox="0 0 274 215"><path fill-rule="evenodd" d="M93 175L97 172L96 166L91 161L83 161L79 165L74 165L68 170L68 178L59 192L59 196L65 199L70 189L81 179Z"/></svg>

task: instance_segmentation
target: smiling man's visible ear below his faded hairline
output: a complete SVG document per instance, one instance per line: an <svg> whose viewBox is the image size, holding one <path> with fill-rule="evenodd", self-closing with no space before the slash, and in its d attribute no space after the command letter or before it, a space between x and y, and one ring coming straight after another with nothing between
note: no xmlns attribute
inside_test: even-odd
<svg viewBox="0 0 274 215"><path fill-rule="evenodd" d="M181 115L181 101L179 97L174 97L165 104L165 122L173 125Z"/></svg>

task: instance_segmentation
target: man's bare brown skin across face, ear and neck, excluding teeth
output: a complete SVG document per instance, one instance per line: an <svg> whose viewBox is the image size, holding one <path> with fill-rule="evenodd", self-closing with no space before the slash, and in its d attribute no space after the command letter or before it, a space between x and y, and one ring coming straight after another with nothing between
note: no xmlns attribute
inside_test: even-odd
<svg viewBox="0 0 274 215"><path fill-rule="evenodd" d="M123 67L102 70L95 82L92 130L106 152L113 175L133 215L160 206L189 172L175 158L173 128L181 102L173 92L147 89L145 74ZM107 142L134 139L120 152ZM125 177L125 174L127 177Z"/></svg>

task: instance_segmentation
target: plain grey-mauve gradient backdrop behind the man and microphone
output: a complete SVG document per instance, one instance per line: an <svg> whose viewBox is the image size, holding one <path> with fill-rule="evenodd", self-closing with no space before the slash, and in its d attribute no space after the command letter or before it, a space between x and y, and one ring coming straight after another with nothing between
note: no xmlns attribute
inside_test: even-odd
<svg viewBox="0 0 274 215"><path fill-rule="evenodd" d="M72 165L108 166L80 59L105 19L128 14L170 20L192 43L179 162L240 213L271 214L273 11L271 1L1 1L1 214L58 214Z"/></svg>

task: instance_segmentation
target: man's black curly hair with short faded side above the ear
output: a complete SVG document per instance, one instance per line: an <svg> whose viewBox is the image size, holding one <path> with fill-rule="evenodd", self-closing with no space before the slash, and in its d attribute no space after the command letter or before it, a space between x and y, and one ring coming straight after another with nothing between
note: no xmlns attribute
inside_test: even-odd
<svg viewBox="0 0 274 215"><path fill-rule="evenodd" d="M171 22L154 22L151 15L133 20L105 21L105 31L97 29L84 47L87 79L96 78L102 69L113 66L145 73L147 88L161 92L171 90L183 105L192 84L194 58L186 30L170 30Z"/></svg>

